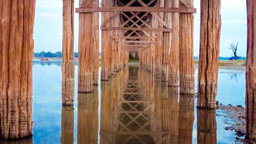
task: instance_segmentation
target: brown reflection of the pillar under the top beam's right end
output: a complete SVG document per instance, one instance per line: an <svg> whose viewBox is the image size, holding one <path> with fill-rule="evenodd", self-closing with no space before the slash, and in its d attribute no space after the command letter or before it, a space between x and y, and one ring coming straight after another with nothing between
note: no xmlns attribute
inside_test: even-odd
<svg viewBox="0 0 256 144"><path fill-rule="evenodd" d="M180 95L178 144L192 144L194 123L194 98Z"/></svg>

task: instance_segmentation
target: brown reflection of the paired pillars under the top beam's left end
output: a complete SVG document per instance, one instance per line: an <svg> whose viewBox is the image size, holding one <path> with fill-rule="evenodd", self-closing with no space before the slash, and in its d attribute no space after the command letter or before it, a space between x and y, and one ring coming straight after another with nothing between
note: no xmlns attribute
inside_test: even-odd
<svg viewBox="0 0 256 144"><path fill-rule="evenodd" d="M78 144L97 144L99 107L98 99L98 86L93 86L92 93L78 93Z"/></svg>

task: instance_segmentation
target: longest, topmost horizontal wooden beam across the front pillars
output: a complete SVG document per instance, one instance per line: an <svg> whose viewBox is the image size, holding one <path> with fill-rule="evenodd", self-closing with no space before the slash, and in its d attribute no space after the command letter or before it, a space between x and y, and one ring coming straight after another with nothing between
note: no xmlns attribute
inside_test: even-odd
<svg viewBox="0 0 256 144"><path fill-rule="evenodd" d="M178 13L196 13L195 8L167 8L167 7L80 7L76 8L76 13L87 12L178 12Z"/></svg>

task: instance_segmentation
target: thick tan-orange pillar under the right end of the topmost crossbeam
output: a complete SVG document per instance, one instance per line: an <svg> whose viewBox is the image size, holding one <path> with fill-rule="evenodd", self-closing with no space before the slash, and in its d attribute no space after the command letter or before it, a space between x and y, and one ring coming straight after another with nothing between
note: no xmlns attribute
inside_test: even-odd
<svg viewBox="0 0 256 144"><path fill-rule="evenodd" d="M193 5L194 0L187 0ZM179 7L185 7L180 3ZM194 14L180 14L180 93L194 94Z"/></svg>

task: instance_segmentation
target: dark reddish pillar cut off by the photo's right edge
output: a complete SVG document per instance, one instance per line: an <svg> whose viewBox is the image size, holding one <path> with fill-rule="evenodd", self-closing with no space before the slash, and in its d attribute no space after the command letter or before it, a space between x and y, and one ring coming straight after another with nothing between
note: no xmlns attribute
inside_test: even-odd
<svg viewBox="0 0 256 144"><path fill-rule="evenodd" d="M246 137L256 139L256 1L247 0Z"/></svg>

